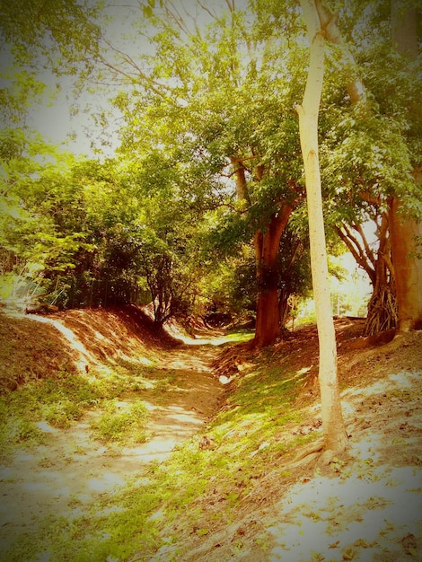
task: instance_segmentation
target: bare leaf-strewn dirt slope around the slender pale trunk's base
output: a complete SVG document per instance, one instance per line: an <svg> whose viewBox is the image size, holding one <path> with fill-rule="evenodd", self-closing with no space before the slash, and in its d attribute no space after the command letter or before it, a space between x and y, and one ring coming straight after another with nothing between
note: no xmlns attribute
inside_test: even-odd
<svg viewBox="0 0 422 562"><path fill-rule="evenodd" d="M314 329L304 329L303 337L280 346L290 351L280 362L312 373L316 338ZM347 350L341 331L338 340L344 342L338 371L347 452L330 465L318 453L299 462L277 458L291 480L284 483L273 466L251 487L232 524L212 530L208 518L205 537L185 539L180 562L422 560L422 332L398 347L358 355ZM315 392L312 376L309 382L296 402L301 422L285 426L285 435L321 434L320 400L303 405L304 394ZM169 553L152 559L167 562Z"/></svg>

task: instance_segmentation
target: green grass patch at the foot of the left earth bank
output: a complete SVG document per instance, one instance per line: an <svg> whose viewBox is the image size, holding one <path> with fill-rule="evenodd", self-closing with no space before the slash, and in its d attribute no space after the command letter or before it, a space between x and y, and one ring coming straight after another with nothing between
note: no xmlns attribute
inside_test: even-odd
<svg viewBox="0 0 422 562"><path fill-rule="evenodd" d="M103 442L143 443L147 410L145 400L166 400L179 389L176 374L156 362L123 360L92 368L89 373L58 371L30 380L17 391L0 394L0 450L6 457L16 447L46 442L40 422L55 428L68 428L88 410L101 409L92 423L94 436ZM126 411L116 401L128 397Z"/></svg>

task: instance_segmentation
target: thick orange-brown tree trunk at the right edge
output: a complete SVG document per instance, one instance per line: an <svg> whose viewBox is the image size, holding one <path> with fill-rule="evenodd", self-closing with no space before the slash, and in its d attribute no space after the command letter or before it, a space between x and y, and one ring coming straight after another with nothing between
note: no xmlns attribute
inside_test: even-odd
<svg viewBox="0 0 422 562"><path fill-rule="evenodd" d="M391 0L391 40L404 60L418 57L417 18L416 7L403 10L400 2ZM420 107L410 107L409 110L415 119L421 119ZM413 176L419 184L422 183L421 168L415 169ZM390 214L391 252L399 309L399 333L422 328L422 259L416 257L416 241L422 236L422 221L405 216L400 211L401 206L400 198L394 196Z"/></svg>

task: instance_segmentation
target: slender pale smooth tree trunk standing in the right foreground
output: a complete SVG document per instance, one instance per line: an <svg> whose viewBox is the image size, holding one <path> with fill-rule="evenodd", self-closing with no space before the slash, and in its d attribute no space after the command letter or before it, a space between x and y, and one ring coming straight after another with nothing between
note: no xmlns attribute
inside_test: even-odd
<svg viewBox="0 0 422 562"><path fill-rule="evenodd" d="M331 313L328 259L322 214L321 173L318 154L318 115L324 75L324 35L315 0L300 0L310 40L310 63L299 115L299 133L305 171L309 217L313 298L320 344L319 381L325 448L345 449L346 429L337 377L337 346Z"/></svg>

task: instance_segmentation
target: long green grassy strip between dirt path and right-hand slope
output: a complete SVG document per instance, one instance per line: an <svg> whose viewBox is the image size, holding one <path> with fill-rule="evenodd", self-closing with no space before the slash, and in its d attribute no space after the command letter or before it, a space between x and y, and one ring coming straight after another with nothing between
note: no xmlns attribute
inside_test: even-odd
<svg viewBox="0 0 422 562"><path fill-rule="evenodd" d="M293 402L302 383L302 375L283 372L277 358L259 356L232 383L224 408L203 435L177 447L166 461L145 465L89 510L48 518L36 537L23 536L4 559L146 561L159 550L169 562L180 559L183 538L206 536L236 521L269 471L287 481L283 458L310 439L288 430L301 421ZM113 431L112 425L104 421L102 431Z"/></svg>

